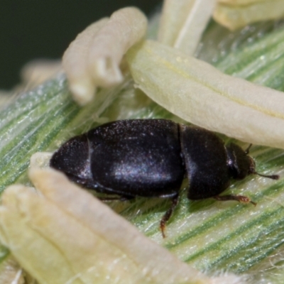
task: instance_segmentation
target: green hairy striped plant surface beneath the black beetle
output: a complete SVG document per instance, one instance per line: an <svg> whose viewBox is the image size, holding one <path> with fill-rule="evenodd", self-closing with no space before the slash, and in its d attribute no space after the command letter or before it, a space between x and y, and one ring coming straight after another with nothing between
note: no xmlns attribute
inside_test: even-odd
<svg viewBox="0 0 284 284"><path fill-rule="evenodd" d="M282 22L259 23L235 33L212 22L197 57L229 75L283 91L283 39ZM26 170L33 153L55 151L63 141L94 126L130 118L181 121L134 89L130 76L119 87L99 90L95 101L83 108L72 102L65 75L20 94L0 111L0 190L14 182L29 184ZM253 146L251 155L258 172L281 176L278 181L249 177L232 183L228 192L248 195L258 202L255 208L237 202L189 201L185 183L167 226L168 237L162 239L158 224L169 206L167 200L137 198L110 206L146 236L202 271L247 273L252 283L281 283L284 151ZM2 264L7 257L9 252L3 249Z"/></svg>

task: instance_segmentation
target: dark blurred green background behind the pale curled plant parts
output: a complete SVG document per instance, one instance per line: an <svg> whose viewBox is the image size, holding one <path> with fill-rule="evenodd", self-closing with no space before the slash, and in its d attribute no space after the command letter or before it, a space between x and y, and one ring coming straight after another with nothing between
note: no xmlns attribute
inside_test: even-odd
<svg viewBox="0 0 284 284"><path fill-rule="evenodd" d="M62 56L89 23L116 9L138 6L148 16L161 0L0 0L0 89L20 81L19 70L35 58Z"/></svg>

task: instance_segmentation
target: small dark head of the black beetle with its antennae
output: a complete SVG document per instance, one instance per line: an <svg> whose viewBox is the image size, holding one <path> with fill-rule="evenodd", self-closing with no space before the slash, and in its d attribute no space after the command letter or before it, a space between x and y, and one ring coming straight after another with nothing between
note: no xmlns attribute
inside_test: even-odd
<svg viewBox="0 0 284 284"><path fill-rule="evenodd" d="M251 145L249 146L251 148ZM241 147L235 143L230 143L226 146L227 153L227 166L229 168L229 173L232 178L236 180L243 180L247 175L255 174L261 175L265 178L271 178L273 180L278 180L279 175L262 175L256 172L256 163L249 156L249 148L244 151Z"/></svg>

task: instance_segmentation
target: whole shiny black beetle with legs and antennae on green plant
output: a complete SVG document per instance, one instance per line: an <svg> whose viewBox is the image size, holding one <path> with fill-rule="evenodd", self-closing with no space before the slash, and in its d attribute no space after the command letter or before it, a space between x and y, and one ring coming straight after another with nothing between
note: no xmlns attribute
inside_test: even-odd
<svg viewBox="0 0 284 284"><path fill-rule="evenodd" d="M167 119L121 120L71 138L55 151L50 166L83 187L119 195L103 200L170 198L171 207L160 221L165 237L165 223L178 204L185 176L190 200L213 197L256 205L243 195L220 196L231 179L258 174L249 148L244 151L235 143L225 145L211 131Z"/></svg>

